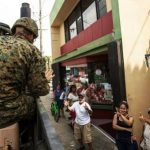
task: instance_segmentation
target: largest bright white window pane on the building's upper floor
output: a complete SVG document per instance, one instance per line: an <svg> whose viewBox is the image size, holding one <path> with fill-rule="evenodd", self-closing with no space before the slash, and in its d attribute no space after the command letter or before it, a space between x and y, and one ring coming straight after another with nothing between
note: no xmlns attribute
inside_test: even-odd
<svg viewBox="0 0 150 150"><path fill-rule="evenodd" d="M95 2L93 2L87 9L85 9L82 15L83 27L86 29L97 20Z"/></svg>

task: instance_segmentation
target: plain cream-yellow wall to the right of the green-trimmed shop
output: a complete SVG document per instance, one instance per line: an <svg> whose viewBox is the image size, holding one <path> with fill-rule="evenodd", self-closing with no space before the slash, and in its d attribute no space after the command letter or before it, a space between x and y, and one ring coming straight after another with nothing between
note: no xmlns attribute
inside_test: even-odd
<svg viewBox="0 0 150 150"><path fill-rule="evenodd" d="M150 107L150 69L145 65L146 51L150 52L150 1L118 0L118 3L129 112L135 118L134 132L140 137L139 112L147 115Z"/></svg>

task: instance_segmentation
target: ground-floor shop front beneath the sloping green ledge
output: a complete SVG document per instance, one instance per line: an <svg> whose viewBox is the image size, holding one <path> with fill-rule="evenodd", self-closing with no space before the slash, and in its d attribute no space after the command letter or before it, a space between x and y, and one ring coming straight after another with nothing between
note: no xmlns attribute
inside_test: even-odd
<svg viewBox="0 0 150 150"><path fill-rule="evenodd" d="M109 43L105 48L99 47L99 50L86 53L86 56L82 54L78 58L63 61L60 70L62 68L65 71L61 71L61 77L67 73L74 77L74 82L80 82L85 77L84 81L93 90L90 101L93 124L113 136L112 118L115 106L126 95L121 41Z"/></svg>

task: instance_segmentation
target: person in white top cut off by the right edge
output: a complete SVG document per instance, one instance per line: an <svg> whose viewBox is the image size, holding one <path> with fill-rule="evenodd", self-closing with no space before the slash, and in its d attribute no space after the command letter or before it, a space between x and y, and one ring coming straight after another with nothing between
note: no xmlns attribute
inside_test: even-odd
<svg viewBox="0 0 150 150"><path fill-rule="evenodd" d="M144 117L140 114L140 121L143 123L143 134L140 147L143 150L150 150L150 108L148 109L149 118Z"/></svg>

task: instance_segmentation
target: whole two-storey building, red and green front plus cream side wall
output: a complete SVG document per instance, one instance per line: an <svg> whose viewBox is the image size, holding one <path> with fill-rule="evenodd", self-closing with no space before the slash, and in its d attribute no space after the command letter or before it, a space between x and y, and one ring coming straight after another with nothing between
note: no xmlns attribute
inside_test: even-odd
<svg viewBox="0 0 150 150"><path fill-rule="evenodd" d="M146 115L150 105L149 8L149 0L56 0L50 14L54 86L64 84L68 67L88 76L89 84L103 84L112 97L92 103L93 120L111 135L107 129L121 100L129 103L137 137L139 112Z"/></svg>

